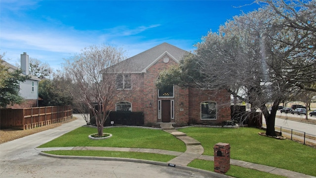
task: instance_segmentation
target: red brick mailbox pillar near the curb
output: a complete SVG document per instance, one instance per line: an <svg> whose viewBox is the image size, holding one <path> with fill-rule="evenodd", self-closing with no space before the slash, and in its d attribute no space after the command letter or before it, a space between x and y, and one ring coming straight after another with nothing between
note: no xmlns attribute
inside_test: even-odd
<svg viewBox="0 0 316 178"><path fill-rule="evenodd" d="M230 169L231 146L229 143L214 145L214 171L225 174Z"/></svg>

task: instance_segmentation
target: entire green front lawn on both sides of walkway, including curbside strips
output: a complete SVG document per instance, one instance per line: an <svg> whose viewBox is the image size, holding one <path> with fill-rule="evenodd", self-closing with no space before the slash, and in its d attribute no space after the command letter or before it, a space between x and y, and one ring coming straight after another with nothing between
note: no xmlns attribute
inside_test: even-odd
<svg viewBox="0 0 316 178"><path fill-rule="evenodd" d="M262 130L255 128L222 129L222 128L185 128L179 131L197 139L204 148L204 155L213 156L213 146L218 142L230 143L231 158L247 162L273 166L276 168L291 170L311 176L316 176L316 149L291 141L278 140L259 135ZM40 147L67 147L67 146L108 146L108 147L130 147L130 148L155 148L171 151L184 152L185 144L161 130L150 130L140 128L107 128L104 133L113 134L111 138L104 140L91 140L89 134L95 134L95 128L78 128L68 134L64 134ZM111 151L112 152L112 151ZM164 157L153 153L113 152L105 151L50 151L47 153L61 155L85 155L85 156L107 156L125 157L145 160L167 162L174 156ZM113 154L113 155L111 155ZM120 155L120 156L116 156ZM161 158L161 160L160 160ZM158 160L157 160L158 159ZM206 169L205 160L195 160L189 166ZM209 163L207 163L209 164ZM208 166L213 171L213 166ZM207 170L207 169L206 169ZM269 178L260 171L249 170L242 167L231 166L228 174L234 177L264 177ZM262 176L252 176L259 175ZM242 176L240 176L242 175ZM276 175L274 175L276 177Z"/></svg>

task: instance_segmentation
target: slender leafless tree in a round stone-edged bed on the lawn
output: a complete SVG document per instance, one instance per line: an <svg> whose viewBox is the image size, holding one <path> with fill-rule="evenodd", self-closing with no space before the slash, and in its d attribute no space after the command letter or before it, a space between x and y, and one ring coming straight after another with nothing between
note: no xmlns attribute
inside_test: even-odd
<svg viewBox="0 0 316 178"><path fill-rule="evenodd" d="M127 94L125 89L117 89L117 75L124 73L126 68L113 67L122 60L124 54L121 49L92 45L68 59L64 66L75 86L73 97L95 116L99 136L103 135L109 106ZM82 114L87 116L86 113Z"/></svg>

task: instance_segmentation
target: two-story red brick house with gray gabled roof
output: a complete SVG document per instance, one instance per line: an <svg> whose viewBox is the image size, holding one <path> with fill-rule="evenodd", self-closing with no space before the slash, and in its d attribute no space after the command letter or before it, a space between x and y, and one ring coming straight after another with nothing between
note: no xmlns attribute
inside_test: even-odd
<svg viewBox="0 0 316 178"><path fill-rule="evenodd" d="M185 53L187 51L163 43L118 63L116 67L129 68L117 75L117 89L126 89L130 94L110 109L142 111L145 124L219 124L230 120L231 98L226 90L156 88L159 72L177 65Z"/></svg>

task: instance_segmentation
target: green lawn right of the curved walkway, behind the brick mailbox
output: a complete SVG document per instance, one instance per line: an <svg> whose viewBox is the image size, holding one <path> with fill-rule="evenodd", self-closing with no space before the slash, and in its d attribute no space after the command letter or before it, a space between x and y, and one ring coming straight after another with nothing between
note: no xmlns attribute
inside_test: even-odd
<svg viewBox="0 0 316 178"><path fill-rule="evenodd" d="M185 128L186 133L201 142L204 155L214 155L218 142L229 143L231 158L287 169L316 176L316 149L291 141L259 135L255 128Z"/></svg>

